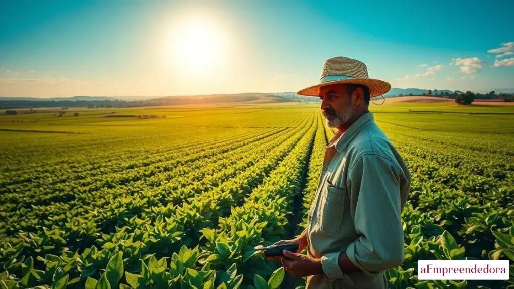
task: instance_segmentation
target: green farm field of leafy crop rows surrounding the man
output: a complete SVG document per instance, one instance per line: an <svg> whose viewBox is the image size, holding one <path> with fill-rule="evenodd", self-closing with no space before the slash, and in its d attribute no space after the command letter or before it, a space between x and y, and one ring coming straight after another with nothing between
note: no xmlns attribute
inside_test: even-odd
<svg viewBox="0 0 514 289"><path fill-rule="evenodd" d="M412 175L390 288L514 284L514 106L370 110ZM0 288L302 286L253 248L305 226L333 135L304 103L0 115ZM511 279L416 278L466 258Z"/></svg>

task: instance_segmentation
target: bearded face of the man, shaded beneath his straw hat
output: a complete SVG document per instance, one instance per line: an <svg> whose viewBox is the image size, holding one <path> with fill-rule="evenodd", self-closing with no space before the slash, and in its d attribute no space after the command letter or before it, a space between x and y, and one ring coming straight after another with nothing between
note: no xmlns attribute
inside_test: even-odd
<svg viewBox="0 0 514 289"><path fill-rule="evenodd" d="M354 116L352 97L348 95L344 84L321 87L319 97L328 127L340 127Z"/></svg>

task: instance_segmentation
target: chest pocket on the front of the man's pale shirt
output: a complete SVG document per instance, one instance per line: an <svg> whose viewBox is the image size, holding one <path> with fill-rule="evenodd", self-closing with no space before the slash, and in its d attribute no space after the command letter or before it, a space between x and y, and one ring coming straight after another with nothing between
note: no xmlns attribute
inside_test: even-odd
<svg viewBox="0 0 514 289"><path fill-rule="evenodd" d="M339 234L343 222L345 197L345 188L337 188L326 182L320 198L320 209L318 210L321 231L333 236Z"/></svg>

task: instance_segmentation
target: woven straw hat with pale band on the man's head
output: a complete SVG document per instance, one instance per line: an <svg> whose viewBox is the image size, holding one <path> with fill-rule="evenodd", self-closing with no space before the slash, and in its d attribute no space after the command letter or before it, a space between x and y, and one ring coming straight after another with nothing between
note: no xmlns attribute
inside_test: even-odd
<svg viewBox="0 0 514 289"><path fill-rule="evenodd" d="M320 87L338 83L363 84L370 88L370 97L387 93L391 84L368 77L368 67L356 59L343 56L325 60L321 70L320 83L297 92L299 95L319 96Z"/></svg>

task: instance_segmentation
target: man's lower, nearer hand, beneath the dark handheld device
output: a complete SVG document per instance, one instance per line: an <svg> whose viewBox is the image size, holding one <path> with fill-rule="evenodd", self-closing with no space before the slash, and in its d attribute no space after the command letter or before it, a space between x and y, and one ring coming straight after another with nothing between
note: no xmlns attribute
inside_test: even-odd
<svg viewBox="0 0 514 289"><path fill-rule="evenodd" d="M321 259L310 258L288 250L284 250L282 254L284 255L282 257L282 266L289 274L296 278L323 274Z"/></svg>

